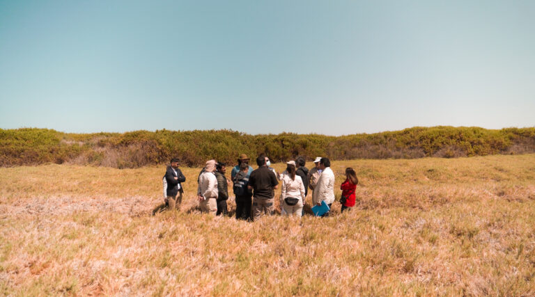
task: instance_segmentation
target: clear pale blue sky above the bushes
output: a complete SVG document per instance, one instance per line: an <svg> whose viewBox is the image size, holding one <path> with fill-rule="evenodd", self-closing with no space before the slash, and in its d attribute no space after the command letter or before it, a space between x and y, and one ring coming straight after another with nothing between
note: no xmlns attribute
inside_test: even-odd
<svg viewBox="0 0 535 297"><path fill-rule="evenodd" d="M535 1L0 0L0 128L535 127Z"/></svg>

